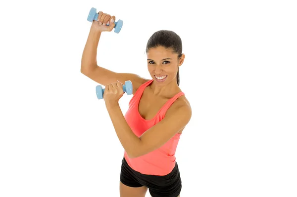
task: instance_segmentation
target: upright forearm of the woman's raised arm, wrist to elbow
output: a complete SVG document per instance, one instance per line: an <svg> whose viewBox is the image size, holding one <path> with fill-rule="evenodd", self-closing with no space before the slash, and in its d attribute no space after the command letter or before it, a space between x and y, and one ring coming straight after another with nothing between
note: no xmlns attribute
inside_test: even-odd
<svg viewBox="0 0 297 197"><path fill-rule="evenodd" d="M97 48L101 32L91 28L81 59L81 71L92 70L97 66Z"/></svg>

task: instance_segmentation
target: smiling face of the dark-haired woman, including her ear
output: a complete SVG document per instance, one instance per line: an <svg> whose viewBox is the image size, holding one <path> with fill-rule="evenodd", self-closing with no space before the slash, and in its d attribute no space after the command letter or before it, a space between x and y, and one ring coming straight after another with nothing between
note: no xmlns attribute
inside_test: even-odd
<svg viewBox="0 0 297 197"><path fill-rule="evenodd" d="M148 72L157 85L164 86L172 81L176 82L179 66L183 64L185 55L179 58L170 48L158 46L147 52Z"/></svg>

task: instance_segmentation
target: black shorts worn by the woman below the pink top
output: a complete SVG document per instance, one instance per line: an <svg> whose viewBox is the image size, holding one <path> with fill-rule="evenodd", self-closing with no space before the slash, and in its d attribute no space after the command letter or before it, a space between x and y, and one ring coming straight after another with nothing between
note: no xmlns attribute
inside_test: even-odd
<svg viewBox="0 0 297 197"><path fill-rule="evenodd" d="M182 180L177 162L169 174L157 176L135 171L123 158L120 181L129 187L146 186L152 197L178 197L182 190Z"/></svg>

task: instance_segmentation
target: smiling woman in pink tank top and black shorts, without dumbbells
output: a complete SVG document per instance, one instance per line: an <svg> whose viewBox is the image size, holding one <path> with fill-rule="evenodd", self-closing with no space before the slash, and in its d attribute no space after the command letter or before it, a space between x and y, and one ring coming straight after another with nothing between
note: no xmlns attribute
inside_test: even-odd
<svg viewBox="0 0 297 197"><path fill-rule="evenodd" d="M152 197L180 197L182 182L175 151L192 116L179 88L179 67L185 58L182 41L168 30L157 31L149 38L146 52L152 79L116 73L97 65L100 35L115 26L114 16L101 11L98 14L83 51L81 72L105 86L105 106L125 150L120 196L145 197L149 190ZM126 80L133 84L133 97L124 116L118 101Z"/></svg>

